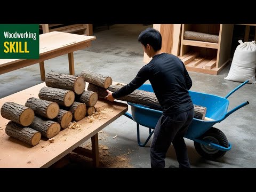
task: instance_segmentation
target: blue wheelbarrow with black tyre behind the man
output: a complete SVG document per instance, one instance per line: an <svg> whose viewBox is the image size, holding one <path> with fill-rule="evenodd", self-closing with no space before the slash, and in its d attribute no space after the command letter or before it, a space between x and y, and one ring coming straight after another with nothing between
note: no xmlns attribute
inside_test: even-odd
<svg viewBox="0 0 256 192"><path fill-rule="evenodd" d="M212 94L189 91L194 105L206 107L205 116L211 119L210 121L205 121L194 118L185 135L185 138L194 141L195 149L202 157L210 160L219 159L231 149L231 143L228 142L226 135L219 129L213 127L213 125L220 123L236 110L249 104L249 102L246 101L227 112L229 105L227 98L248 82L249 81L245 81L237 86L233 91L228 93L225 98ZM143 84L138 90L154 92L150 84ZM162 111L131 102L127 103L131 106L132 114L126 112L124 115L137 123L138 145L145 147L154 133L155 126L162 115ZM149 136L143 144L140 142L140 125L149 128Z"/></svg>

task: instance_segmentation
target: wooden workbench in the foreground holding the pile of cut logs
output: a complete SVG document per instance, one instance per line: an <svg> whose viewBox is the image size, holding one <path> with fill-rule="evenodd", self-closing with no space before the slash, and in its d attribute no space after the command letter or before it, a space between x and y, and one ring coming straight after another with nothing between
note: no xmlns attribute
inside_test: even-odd
<svg viewBox="0 0 256 192"><path fill-rule="evenodd" d="M38 92L43 86L45 83L0 99L0 108L7 101L25 105L28 98L38 98ZM97 110L107 108L113 111L104 114L104 117L107 118L96 119L93 123L87 122L88 117L82 119L77 122L81 126L81 130L68 128L61 130L54 137L53 143L42 137L38 145L34 147L9 137L5 133L5 126L9 120L0 116L0 167L49 167L71 151L91 157L94 166L99 166L98 132L123 115L128 106L126 103L109 102L102 99L98 100L95 108ZM92 139L92 150L79 147L90 138Z"/></svg>

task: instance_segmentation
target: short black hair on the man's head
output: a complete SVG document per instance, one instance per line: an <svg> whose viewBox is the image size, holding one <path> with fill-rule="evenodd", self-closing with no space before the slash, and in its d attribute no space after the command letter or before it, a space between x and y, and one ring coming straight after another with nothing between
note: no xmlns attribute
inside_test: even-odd
<svg viewBox="0 0 256 192"><path fill-rule="evenodd" d="M151 45L154 51L161 50L162 48L161 33L153 28L147 28L143 30L138 37L138 41L145 47L147 44Z"/></svg>

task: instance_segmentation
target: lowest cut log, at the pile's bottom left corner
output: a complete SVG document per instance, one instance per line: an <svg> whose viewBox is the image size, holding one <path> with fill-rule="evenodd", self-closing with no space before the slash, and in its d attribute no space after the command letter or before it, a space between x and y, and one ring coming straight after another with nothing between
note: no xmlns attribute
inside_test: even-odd
<svg viewBox="0 0 256 192"><path fill-rule="evenodd" d="M36 146L41 140L41 133L30 127L23 127L18 123L9 122L5 127L5 133L10 137L23 141L31 146Z"/></svg>

